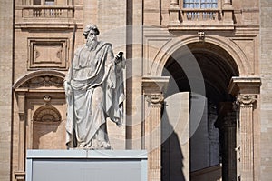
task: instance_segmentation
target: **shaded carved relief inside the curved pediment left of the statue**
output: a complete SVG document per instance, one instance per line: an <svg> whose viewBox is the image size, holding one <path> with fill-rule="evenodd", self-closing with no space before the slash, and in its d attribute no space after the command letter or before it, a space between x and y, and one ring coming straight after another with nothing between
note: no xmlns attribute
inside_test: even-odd
<svg viewBox="0 0 272 181"><path fill-rule="evenodd" d="M37 88L37 87L63 87L63 78L57 76L43 75L34 77L24 83L21 87L24 88Z"/></svg>

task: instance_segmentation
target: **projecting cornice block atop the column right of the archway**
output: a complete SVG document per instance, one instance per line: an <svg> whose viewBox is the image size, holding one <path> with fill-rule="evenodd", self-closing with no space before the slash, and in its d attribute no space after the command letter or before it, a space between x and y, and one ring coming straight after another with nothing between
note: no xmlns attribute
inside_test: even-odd
<svg viewBox="0 0 272 181"><path fill-rule="evenodd" d="M228 85L228 93L237 96L238 94L259 94L261 85L260 77L232 77Z"/></svg>

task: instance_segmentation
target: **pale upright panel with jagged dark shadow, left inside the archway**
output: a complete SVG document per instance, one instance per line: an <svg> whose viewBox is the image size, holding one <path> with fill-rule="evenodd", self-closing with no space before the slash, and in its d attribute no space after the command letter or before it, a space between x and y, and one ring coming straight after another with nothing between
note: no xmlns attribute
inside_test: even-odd
<svg viewBox="0 0 272 181"><path fill-rule="evenodd" d="M161 180L189 179L189 93L165 99L161 121Z"/></svg>

